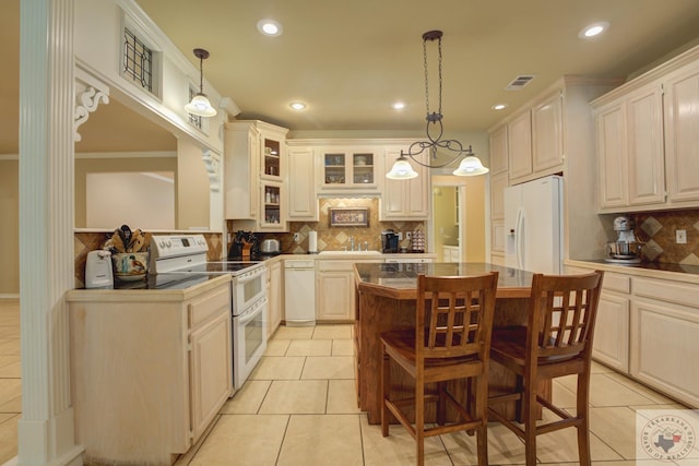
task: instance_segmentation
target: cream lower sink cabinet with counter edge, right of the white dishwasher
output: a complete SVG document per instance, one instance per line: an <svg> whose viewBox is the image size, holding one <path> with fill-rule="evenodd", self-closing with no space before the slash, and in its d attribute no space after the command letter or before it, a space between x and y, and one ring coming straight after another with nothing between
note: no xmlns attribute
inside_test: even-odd
<svg viewBox="0 0 699 466"><path fill-rule="evenodd" d="M383 259L318 259L316 261L316 320L318 322L354 322L355 262L383 262Z"/></svg>

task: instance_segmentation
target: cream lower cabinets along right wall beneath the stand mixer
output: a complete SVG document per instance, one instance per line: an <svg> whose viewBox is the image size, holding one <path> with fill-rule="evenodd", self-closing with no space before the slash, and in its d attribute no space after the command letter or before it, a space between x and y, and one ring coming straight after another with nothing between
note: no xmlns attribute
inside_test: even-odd
<svg viewBox="0 0 699 466"><path fill-rule="evenodd" d="M585 272L579 264L567 266L566 273ZM589 268L599 267L592 263ZM697 342L698 284L605 272L594 330L595 360L699 408Z"/></svg>

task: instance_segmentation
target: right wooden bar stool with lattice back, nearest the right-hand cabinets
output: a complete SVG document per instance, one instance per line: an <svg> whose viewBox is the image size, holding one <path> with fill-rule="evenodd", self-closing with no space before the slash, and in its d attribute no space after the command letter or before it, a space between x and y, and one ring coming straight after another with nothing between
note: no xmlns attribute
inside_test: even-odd
<svg viewBox="0 0 699 466"><path fill-rule="evenodd" d="M493 331L490 358L517 374L519 389L490 397L488 406L518 399L524 428L493 408L488 408L488 415L524 440L528 466L536 463L536 435L569 427L578 429L580 464L590 465L590 365L603 276L600 271L585 275L535 274L528 326ZM578 377L576 416L536 393L540 381L570 374ZM536 403L560 419L537 426Z"/></svg>

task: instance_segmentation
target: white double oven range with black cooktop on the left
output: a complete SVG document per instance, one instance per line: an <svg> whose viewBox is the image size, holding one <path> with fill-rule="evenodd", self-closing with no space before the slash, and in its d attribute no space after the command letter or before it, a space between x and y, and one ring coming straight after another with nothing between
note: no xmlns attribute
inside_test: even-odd
<svg viewBox="0 0 699 466"><path fill-rule="evenodd" d="M266 349L266 266L263 262L206 262L203 235L153 236L150 273L158 286L166 282L232 275L233 386L238 390ZM162 279L161 279L162 278Z"/></svg>

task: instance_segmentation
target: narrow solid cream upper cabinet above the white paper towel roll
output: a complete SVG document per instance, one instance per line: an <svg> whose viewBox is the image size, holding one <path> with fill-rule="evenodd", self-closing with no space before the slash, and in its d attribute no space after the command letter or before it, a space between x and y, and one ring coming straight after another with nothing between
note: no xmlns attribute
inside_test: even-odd
<svg viewBox="0 0 699 466"><path fill-rule="evenodd" d="M288 146L288 219L318 222L316 154L312 147Z"/></svg>

